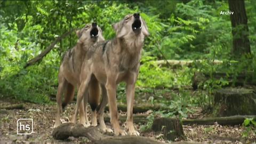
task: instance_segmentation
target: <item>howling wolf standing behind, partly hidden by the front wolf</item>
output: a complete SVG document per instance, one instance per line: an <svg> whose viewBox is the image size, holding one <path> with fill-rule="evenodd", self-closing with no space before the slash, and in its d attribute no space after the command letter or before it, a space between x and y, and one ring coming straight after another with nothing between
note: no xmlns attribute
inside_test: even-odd
<svg viewBox="0 0 256 144"><path fill-rule="evenodd" d="M54 127L57 127L60 125L60 115L62 113L62 109L68 104L69 101L71 101L74 98L75 93L75 87L79 87L79 75L81 73L81 67L82 62L85 58L86 52L89 49L89 47L105 41L105 39L102 36L102 30L98 27L97 23L87 24L85 27L81 30L76 31L76 34L78 36L77 45L73 47L73 49L69 50L61 63L60 69L59 69L59 75L58 75L58 90L56 95L57 100L57 115L55 118L55 124ZM91 82L90 83L90 95L98 95L97 98L100 96L100 87L98 82ZM65 93L65 100L63 103L61 102L62 94ZM86 93L87 94L87 93ZM88 98L88 97L85 97ZM89 100L89 103L98 103L99 99L92 99L94 101ZM84 126L90 126L90 123L87 118L86 113L86 103L87 99L84 99L85 102L82 102L82 105L79 107L79 113L80 113L80 123ZM83 105L85 103L85 106ZM92 125L97 125L97 119L96 119L96 112L95 108L97 106L91 106L94 113L92 116ZM83 114L82 114L83 113Z"/></svg>

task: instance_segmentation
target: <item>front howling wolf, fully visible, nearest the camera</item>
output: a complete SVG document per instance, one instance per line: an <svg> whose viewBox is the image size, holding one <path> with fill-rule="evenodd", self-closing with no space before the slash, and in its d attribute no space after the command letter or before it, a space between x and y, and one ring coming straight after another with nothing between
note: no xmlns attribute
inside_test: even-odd
<svg viewBox="0 0 256 144"><path fill-rule="evenodd" d="M110 122L115 135L139 135L133 126L133 101L135 82L139 74L140 57L143 41L149 35L145 21L139 13L128 14L113 25L116 37L90 47L86 53L81 70L81 85L78 89L75 113L71 122L76 122L78 108L84 93L89 90L90 82L95 79L102 85L102 101L98 108L100 129L106 129L103 124L103 110L109 103ZM120 82L126 83L127 119L126 133L120 129L116 104L116 87Z"/></svg>

